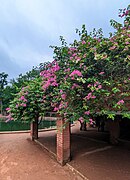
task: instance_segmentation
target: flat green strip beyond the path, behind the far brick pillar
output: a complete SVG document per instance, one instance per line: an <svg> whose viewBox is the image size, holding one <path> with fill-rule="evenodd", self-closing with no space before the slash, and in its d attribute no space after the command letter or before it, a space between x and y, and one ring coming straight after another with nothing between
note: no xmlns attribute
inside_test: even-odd
<svg viewBox="0 0 130 180"><path fill-rule="evenodd" d="M39 129L51 128L56 126L55 121L42 121L39 124ZM10 121L3 122L0 121L0 131L21 131L30 130L30 123L21 121Z"/></svg>

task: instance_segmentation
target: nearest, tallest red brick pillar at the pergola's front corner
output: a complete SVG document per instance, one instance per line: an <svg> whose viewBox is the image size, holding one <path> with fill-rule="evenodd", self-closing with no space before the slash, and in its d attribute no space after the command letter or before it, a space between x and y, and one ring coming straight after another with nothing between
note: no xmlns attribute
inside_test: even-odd
<svg viewBox="0 0 130 180"><path fill-rule="evenodd" d="M70 161L70 123L63 118L57 120L57 161L63 166Z"/></svg>

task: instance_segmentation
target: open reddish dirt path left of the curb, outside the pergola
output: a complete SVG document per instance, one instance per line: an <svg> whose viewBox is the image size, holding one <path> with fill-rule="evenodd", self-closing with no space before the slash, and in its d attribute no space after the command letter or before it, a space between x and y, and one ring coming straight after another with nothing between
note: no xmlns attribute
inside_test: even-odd
<svg viewBox="0 0 130 180"><path fill-rule="evenodd" d="M0 180L81 180L28 137L0 134Z"/></svg>

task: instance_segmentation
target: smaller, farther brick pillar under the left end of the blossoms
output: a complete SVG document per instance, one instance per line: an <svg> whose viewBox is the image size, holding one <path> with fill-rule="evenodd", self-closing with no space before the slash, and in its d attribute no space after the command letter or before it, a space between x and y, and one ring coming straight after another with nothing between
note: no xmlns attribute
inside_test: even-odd
<svg viewBox="0 0 130 180"><path fill-rule="evenodd" d="M31 128L30 135L31 135L32 141L34 141L34 139L38 139L38 122L37 121L31 122L30 128Z"/></svg>

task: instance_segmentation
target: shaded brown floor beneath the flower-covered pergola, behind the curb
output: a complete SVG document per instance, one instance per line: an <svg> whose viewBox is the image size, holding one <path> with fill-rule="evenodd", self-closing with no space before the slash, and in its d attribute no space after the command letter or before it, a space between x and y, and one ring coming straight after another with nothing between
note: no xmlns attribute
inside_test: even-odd
<svg viewBox="0 0 130 180"><path fill-rule="evenodd" d="M56 131L39 133L39 141L56 153ZM71 134L71 166L90 180L129 180L130 149L108 144L108 133L79 131L76 124Z"/></svg>

